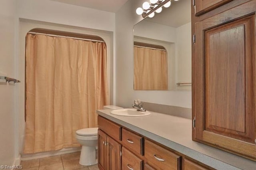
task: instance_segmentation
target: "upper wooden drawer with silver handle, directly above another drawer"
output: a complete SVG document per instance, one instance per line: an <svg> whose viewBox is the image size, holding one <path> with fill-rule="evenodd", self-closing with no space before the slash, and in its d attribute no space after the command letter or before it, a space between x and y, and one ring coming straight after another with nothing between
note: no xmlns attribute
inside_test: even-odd
<svg viewBox="0 0 256 170"><path fill-rule="evenodd" d="M122 144L135 153L144 155L143 137L125 128L122 129Z"/></svg>

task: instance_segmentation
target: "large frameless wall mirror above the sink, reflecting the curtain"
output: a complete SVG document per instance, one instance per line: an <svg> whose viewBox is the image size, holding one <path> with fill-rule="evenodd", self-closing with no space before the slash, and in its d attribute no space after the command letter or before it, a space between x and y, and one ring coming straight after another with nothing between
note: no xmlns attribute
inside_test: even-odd
<svg viewBox="0 0 256 170"><path fill-rule="evenodd" d="M134 90L191 89L191 1L134 26Z"/></svg>

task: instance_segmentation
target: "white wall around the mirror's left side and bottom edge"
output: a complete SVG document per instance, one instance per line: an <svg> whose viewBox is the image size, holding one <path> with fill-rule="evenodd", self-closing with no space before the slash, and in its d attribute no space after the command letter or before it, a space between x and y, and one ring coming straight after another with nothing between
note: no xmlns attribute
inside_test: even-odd
<svg viewBox="0 0 256 170"><path fill-rule="evenodd" d="M136 8L143 0L129 0L116 13L116 105L131 107L134 99L191 108L191 91L134 91L133 26L142 20ZM171 19L171 18L170 18Z"/></svg>

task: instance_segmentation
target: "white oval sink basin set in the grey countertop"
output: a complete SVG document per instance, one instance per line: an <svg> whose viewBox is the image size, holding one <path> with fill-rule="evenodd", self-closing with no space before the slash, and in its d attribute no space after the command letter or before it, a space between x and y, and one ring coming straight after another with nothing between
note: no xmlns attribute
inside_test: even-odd
<svg viewBox="0 0 256 170"><path fill-rule="evenodd" d="M119 116L146 116L150 115L149 111L141 112L137 111L137 109L116 109L110 111L113 115L119 115Z"/></svg>

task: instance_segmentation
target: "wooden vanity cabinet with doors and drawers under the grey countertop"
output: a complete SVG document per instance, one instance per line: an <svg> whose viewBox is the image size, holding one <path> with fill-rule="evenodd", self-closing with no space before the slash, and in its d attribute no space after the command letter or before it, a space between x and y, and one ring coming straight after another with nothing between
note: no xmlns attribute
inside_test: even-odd
<svg viewBox="0 0 256 170"><path fill-rule="evenodd" d="M98 116L98 120L100 120L98 121L98 167L100 170L182 169L182 154L174 153L173 150L101 116ZM122 140L119 140L120 138Z"/></svg>

